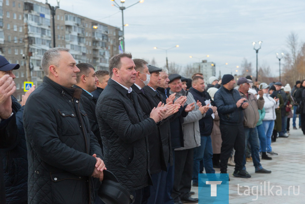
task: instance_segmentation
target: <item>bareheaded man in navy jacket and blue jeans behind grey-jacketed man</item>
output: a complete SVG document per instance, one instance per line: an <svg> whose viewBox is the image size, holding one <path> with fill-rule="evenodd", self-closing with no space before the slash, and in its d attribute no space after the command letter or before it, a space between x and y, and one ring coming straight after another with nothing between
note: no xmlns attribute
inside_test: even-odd
<svg viewBox="0 0 305 204"><path fill-rule="evenodd" d="M201 76L195 76L192 80L192 87L189 92L194 96L195 101L199 101L202 106L206 106L205 102L209 100L211 102L211 97L208 92L204 89L204 80ZM213 169L213 149L211 133L213 129L213 117L212 114L217 110L216 106L210 106L210 109L206 112L206 115L199 120L199 131L200 131L200 146L194 148L194 164L193 164L193 186L198 186L198 183L203 185L202 181L198 180L199 174L199 162L203 159L203 166L206 173L215 173Z"/></svg>

